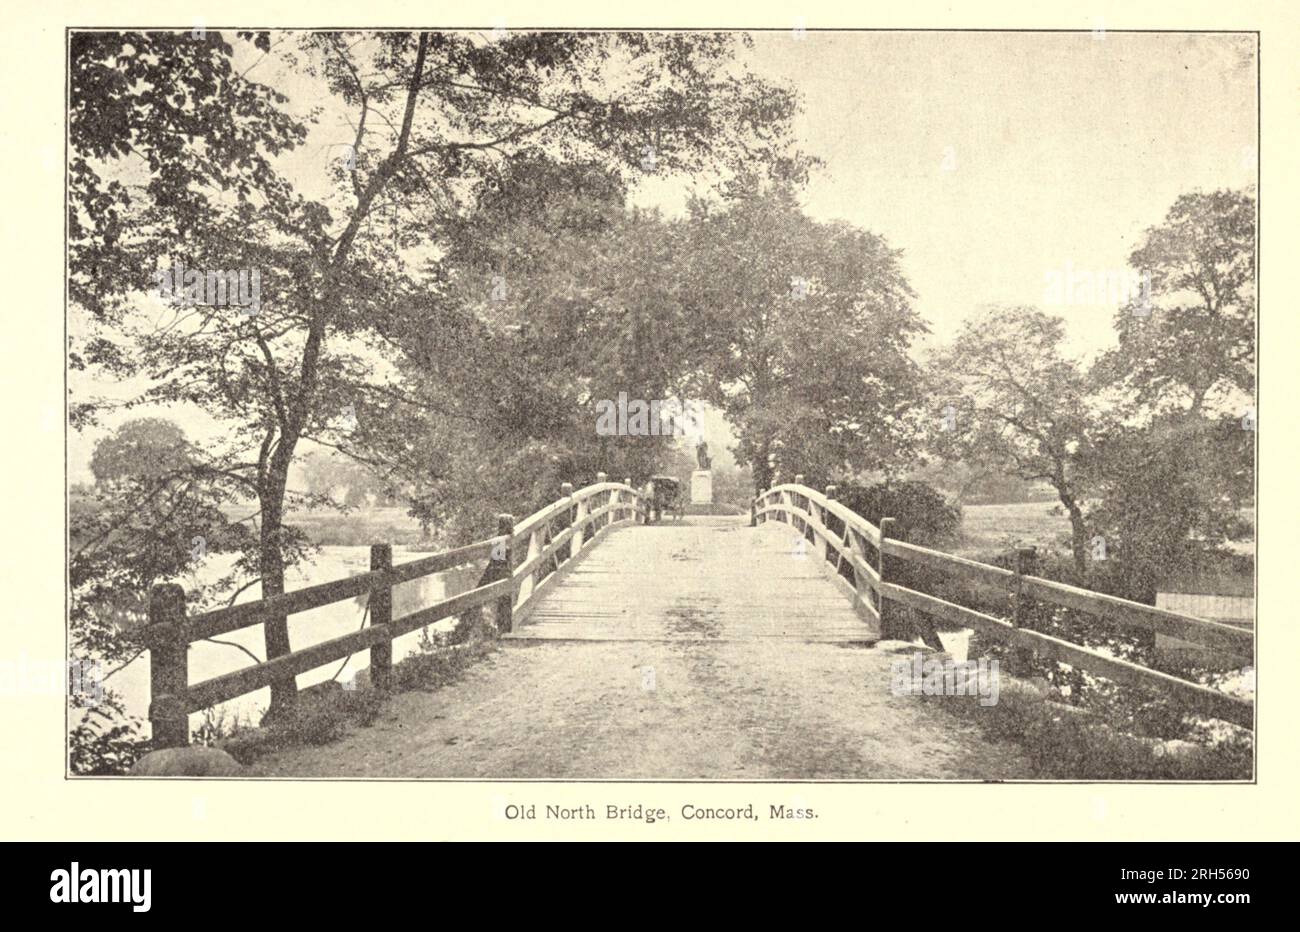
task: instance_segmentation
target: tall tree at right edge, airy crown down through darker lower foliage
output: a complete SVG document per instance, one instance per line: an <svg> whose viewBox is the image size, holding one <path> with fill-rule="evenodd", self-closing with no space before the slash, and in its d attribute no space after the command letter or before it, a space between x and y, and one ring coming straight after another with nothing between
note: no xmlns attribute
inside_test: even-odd
<svg viewBox="0 0 1300 932"><path fill-rule="evenodd" d="M1130 257L1152 300L1119 309L1119 346L1095 368L1122 417L1097 437L1088 513L1106 585L1128 598L1153 601L1162 577L1249 533L1254 209L1244 191L1184 194Z"/></svg>

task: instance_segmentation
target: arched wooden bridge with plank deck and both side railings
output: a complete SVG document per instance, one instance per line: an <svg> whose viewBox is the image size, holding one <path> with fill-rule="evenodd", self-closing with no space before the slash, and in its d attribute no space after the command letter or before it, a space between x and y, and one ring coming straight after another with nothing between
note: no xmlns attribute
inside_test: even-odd
<svg viewBox="0 0 1300 932"><path fill-rule="evenodd" d="M835 500L833 486L816 491L801 481L757 497L748 519L647 524L646 515L638 489L601 474L581 490L566 485L558 500L521 521L502 515L493 537L464 547L393 565L391 547L374 545L370 572L346 580L192 616L185 614L179 586L156 586L146 629L155 745L187 744L190 714L361 651L369 651L372 686L389 690L394 638L471 610L491 612L504 646L525 650L520 664L528 663L529 645L577 650L608 642L716 643L758 645L767 651L762 656L775 658L763 663L777 669L780 658L793 656L800 645L910 640L916 619L923 621L920 637L941 646L924 623L941 619L1118 684L1160 690L1188 711L1253 727L1252 702L1034 630L1024 619L1032 602L1048 602L1123 628L1171 634L1240 658L1242 664L1252 658L1252 632L1040 578L1028 551L1020 551L1015 569L1004 569L919 547L894 539L892 519L876 526ZM933 578L1001 591L1006 611L985 614L910 589L893 578L898 562L924 567ZM393 616L395 585L480 563L476 588ZM369 599L368 627L233 673L188 681L191 642L359 595ZM751 662L744 656L736 655L734 663ZM838 663L819 656L820 669ZM800 689L815 699L819 684L802 682Z"/></svg>

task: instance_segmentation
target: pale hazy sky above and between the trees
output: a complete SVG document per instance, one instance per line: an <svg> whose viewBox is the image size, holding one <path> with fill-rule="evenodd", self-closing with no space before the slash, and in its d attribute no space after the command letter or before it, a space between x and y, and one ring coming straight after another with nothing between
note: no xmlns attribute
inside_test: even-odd
<svg viewBox="0 0 1300 932"><path fill-rule="evenodd" d="M740 64L802 95L794 131L823 161L809 214L902 250L931 328L922 352L993 303L1060 315L1079 355L1110 346L1119 300L1062 302L1053 277L1115 276L1178 195L1256 183L1254 36L781 30L755 32ZM281 86L273 58L250 77ZM321 103L304 87L299 112ZM326 112L291 159L318 172L350 138ZM633 199L679 213L692 187L650 177ZM70 434L70 481L90 478L99 435ZM711 437L715 458L729 442Z"/></svg>

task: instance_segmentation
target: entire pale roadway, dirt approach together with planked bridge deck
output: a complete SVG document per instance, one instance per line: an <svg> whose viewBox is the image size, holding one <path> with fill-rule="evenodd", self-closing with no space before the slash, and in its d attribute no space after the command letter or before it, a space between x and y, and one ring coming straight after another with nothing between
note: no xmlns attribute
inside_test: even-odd
<svg viewBox="0 0 1300 932"><path fill-rule="evenodd" d="M909 695L916 649L867 624L785 526L611 530L500 650L399 693L259 776L511 780L1005 780L1023 754ZM793 803L792 803L793 805Z"/></svg>

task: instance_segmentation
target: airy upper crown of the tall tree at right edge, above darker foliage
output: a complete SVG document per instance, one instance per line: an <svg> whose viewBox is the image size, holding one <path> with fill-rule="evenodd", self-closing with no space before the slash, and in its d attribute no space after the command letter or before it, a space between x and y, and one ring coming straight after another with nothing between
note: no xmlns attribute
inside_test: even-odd
<svg viewBox="0 0 1300 932"><path fill-rule="evenodd" d="M1130 256L1149 276L1115 313L1108 381L1154 412L1196 417L1208 403L1254 393L1254 198L1184 194ZM1239 417L1240 411L1235 412Z"/></svg>

